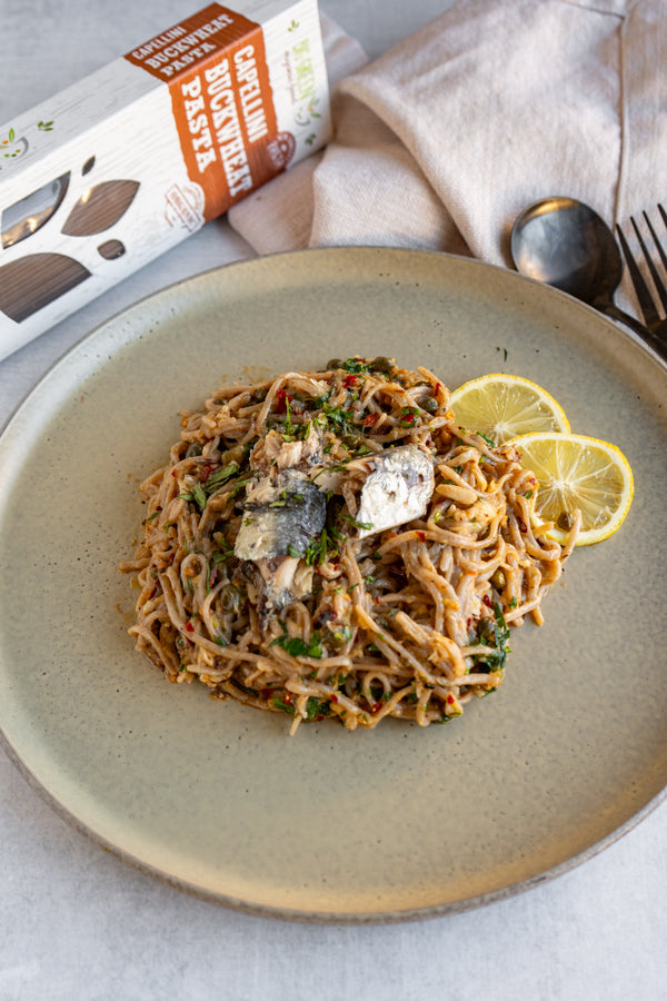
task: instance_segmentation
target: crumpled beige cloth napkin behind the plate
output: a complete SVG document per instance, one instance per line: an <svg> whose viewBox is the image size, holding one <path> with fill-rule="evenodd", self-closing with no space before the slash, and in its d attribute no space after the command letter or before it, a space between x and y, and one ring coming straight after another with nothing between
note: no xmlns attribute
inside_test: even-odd
<svg viewBox="0 0 667 1001"><path fill-rule="evenodd" d="M458 0L374 62L326 16L322 31L334 140L229 212L260 254L372 244L509 265L539 198L614 225L665 197L665 0Z"/></svg>

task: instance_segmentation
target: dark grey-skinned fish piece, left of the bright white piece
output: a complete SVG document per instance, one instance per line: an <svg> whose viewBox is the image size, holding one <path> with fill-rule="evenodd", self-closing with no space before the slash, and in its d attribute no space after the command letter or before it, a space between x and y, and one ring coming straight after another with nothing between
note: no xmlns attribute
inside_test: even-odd
<svg viewBox="0 0 667 1001"><path fill-rule="evenodd" d="M286 469L262 483L261 503L247 502L233 552L239 559L273 559L302 553L325 527L327 500L303 473ZM253 494L250 493L250 497Z"/></svg>

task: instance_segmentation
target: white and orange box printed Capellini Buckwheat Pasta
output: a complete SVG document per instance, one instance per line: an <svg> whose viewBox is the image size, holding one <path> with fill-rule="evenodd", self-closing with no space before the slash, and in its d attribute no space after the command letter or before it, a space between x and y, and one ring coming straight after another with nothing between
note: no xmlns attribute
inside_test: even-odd
<svg viewBox="0 0 667 1001"><path fill-rule="evenodd" d="M328 141L317 0L238 8L0 127L0 358Z"/></svg>

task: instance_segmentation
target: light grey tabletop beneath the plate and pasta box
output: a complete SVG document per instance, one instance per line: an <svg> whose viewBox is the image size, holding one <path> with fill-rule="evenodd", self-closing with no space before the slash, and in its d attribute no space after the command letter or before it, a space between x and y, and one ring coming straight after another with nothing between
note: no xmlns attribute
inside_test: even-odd
<svg viewBox="0 0 667 1001"><path fill-rule="evenodd" d="M448 3L321 6L377 57ZM191 0L0 0L0 122L196 9ZM0 426L101 321L177 279L251 256L225 220L211 224L0 361ZM480 910L359 928L248 916L102 851L0 751L0 1001L657 1001L667 998L666 900L663 804L584 865Z"/></svg>

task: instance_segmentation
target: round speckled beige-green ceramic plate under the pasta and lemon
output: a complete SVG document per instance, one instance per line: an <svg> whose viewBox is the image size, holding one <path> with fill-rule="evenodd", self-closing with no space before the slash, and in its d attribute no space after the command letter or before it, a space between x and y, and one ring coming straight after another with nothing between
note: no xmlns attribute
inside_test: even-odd
<svg viewBox="0 0 667 1001"><path fill-rule="evenodd" d="M447 726L301 726L169 685L116 565L178 412L235 378L389 355L450 387L534 379L628 456L621 531L578 549L502 687ZM0 730L77 826L182 889L302 920L499 899L627 831L667 784L667 373L591 309L438 254L322 249L201 275L70 351L0 439Z"/></svg>

